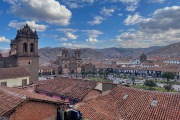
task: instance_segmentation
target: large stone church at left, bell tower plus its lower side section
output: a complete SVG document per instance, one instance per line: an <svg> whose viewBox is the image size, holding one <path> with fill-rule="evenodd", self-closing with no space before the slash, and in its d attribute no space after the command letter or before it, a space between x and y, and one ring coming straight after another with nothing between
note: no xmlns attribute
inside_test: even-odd
<svg viewBox="0 0 180 120"><path fill-rule="evenodd" d="M0 67L23 67L30 73L30 83L38 80L38 35L26 24L11 40L9 53L0 54Z"/></svg>

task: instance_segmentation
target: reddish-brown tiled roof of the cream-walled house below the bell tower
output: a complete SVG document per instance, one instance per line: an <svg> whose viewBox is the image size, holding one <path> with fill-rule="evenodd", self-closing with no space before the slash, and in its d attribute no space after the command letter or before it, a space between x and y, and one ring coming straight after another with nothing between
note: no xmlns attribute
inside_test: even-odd
<svg viewBox="0 0 180 120"><path fill-rule="evenodd" d="M11 68L0 68L0 79L18 78L30 76L24 68L11 67Z"/></svg>

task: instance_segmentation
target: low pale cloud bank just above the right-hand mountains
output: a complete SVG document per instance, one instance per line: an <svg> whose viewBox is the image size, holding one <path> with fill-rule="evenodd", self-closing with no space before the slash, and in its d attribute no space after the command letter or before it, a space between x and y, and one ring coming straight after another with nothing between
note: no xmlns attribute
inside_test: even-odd
<svg viewBox="0 0 180 120"><path fill-rule="evenodd" d="M163 46L180 41L180 30L168 30L158 33L148 33L141 30L124 32L114 39L120 47L145 48L150 46Z"/></svg>

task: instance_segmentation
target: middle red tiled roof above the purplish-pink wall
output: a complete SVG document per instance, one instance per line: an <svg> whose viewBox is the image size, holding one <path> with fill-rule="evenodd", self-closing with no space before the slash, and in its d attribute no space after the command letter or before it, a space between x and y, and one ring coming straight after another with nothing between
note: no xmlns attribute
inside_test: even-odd
<svg viewBox="0 0 180 120"><path fill-rule="evenodd" d="M36 88L36 91L83 99L83 97L97 85L97 82L62 77L54 80L40 81L37 84L39 86Z"/></svg>

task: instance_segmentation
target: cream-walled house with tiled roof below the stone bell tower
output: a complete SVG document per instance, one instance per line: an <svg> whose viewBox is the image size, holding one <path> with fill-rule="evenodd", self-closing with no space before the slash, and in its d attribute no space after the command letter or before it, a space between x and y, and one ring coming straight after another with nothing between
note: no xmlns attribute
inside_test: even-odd
<svg viewBox="0 0 180 120"><path fill-rule="evenodd" d="M0 68L0 85L8 87L29 85L29 72L24 68Z"/></svg>

